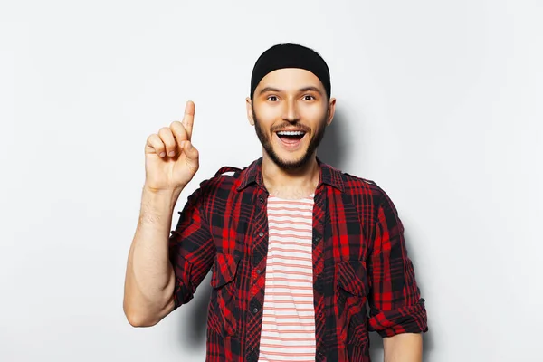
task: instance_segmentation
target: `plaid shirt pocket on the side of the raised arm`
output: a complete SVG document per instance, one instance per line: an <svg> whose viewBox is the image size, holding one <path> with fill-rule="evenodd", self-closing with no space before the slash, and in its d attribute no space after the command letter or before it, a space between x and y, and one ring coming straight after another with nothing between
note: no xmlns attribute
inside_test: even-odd
<svg viewBox="0 0 543 362"><path fill-rule="evenodd" d="M208 323L218 333L234 335L238 329L239 307L236 276L240 257L217 253L212 267L210 315Z"/></svg>

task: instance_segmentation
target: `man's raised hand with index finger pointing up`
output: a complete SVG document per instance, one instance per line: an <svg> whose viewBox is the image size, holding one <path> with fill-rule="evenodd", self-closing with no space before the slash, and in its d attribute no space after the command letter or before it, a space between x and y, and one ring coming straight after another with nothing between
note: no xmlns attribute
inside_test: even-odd
<svg viewBox="0 0 543 362"><path fill-rule="evenodd" d="M191 137L195 103L187 101L183 121L174 121L158 134L148 137L145 145L145 186L151 191L182 190L199 168L198 150Z"/></svg>

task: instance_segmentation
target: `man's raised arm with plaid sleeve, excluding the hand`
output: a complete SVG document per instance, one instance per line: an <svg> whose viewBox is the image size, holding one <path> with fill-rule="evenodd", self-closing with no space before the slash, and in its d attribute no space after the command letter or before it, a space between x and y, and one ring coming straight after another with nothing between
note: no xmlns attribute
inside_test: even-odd
<svg viewBox="0 0 543 362"><path fill-rule="evenodd" d="M153 326L191 300L211 268L214 243L202 213L203 185L188 197L169 239L178 193L144 191L125 284L124 310L135 327Z"/></svg>

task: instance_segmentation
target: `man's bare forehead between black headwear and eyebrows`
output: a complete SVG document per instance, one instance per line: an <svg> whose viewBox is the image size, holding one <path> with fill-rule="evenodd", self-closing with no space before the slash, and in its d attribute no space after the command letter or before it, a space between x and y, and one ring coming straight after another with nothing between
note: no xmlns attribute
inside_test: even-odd
<svg viewBox="0 0 543 362"><path fill-rule="evenodd" d="M275 87L281 90L299 90L301 87L308 86L324 90L319 78L312 72L300 68L284 68L266 74L256 88Z"/></svg>

